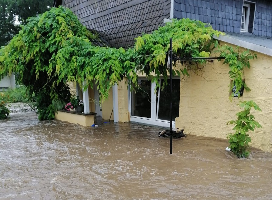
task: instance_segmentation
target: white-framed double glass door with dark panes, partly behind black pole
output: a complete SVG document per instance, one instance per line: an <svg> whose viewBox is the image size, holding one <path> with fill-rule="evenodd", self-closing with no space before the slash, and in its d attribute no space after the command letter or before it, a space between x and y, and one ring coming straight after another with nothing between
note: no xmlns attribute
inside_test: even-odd
<svg viewBox="0 0 272 200"><path fill-rule="evenodd" d="M164 89L157 88L146 78L138 78L139 88L129 90L130 120L158 126L169 126L170 122L170 80L167 80ZM161 85L160 81L160 85ZM172 120L175 127L175 118L179 116L180 78L172 81Z"/></svg>

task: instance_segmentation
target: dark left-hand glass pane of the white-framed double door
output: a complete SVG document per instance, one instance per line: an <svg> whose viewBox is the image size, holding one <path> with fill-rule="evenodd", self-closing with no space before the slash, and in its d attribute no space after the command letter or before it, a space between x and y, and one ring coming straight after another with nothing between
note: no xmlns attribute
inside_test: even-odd
<svg viewBox="0 0 272 200"><path fill-rule="evenodd" d="M151 118L151 81L139 79L138 84L131 92L131 115Z"/></svg>

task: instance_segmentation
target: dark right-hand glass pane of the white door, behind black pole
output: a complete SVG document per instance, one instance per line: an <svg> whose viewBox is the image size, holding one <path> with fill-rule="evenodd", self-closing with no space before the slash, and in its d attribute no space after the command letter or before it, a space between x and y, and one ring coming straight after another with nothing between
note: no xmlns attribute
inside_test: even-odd
<svg viewBox="0 0 272 200"><path fill-rule="evenodd" d="M172 120L175 121L180 110L180 79L173 79L172 83ZM167 86L160 91L158 112L158 119L170 120L170 80L167 80Z"/></svg>

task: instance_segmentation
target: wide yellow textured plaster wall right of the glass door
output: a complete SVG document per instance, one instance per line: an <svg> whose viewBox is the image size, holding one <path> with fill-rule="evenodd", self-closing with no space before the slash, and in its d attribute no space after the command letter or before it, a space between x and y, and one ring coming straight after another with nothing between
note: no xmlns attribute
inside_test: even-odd
<svg viewBox="0 0 272 200"><path fill-rule="evenodd" d="M262 112L252 110L252 114L263 127L250 132L250 145L272 152L272 57L260 53L257 57L250 62L250 69L244 71L251 91L244 91L239 100L228 99L229 66L222 62L215 61L198 73L200 76L192 74L188 80L182 80L176 127L184 128L188 134L226 138L227 133L233 133L233 125L227 125L227 121L236 119L235 114L240 111L237 103L254 100Z"/></svg>

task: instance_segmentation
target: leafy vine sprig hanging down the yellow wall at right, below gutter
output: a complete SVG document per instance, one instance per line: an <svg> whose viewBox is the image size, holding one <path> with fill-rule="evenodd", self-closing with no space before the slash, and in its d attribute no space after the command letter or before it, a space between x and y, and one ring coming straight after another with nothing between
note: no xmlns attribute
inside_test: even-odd
<svg viewBox="0 0 272 200"><path fill-rule="evenodd" d="M240 91L242 87L248 92L250 88L247 86L244 80L243 69L247 67L250 68L250 59L257 59L257 55L253 54L252 51L247 50L243 52L239 52L239 47L237 46L235 49L231 46L222 46L218 51L220 51L220 57L225 57L223 64L228 64L230 66L230 79L233 80L230 85L230 91L233 89L233 84L236 86L236 91ZM220 61L220 60L219 60ZM233 97L233 93L231 92L230 100ZM240 93L238 93L238 98L240 97Z"/></svg>

